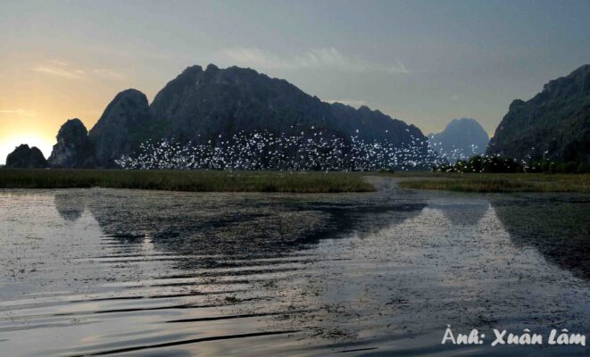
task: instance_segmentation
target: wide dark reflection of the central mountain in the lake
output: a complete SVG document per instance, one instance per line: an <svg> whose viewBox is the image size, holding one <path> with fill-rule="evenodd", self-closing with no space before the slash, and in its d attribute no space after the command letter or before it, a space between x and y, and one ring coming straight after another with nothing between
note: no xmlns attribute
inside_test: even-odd
<svg viewBox="0 0 590 357"><path fill-rule="evenodd" d="M96 190L84 199L58 195L62 216L84 204L104 233L121 242L149 237L156 250L179 255L278 257L321 238L359 237L417 216L426 203L369 195L186 194ZM58 206L59 204L59 206ZM191 260L190 268L198 268ZM195 265L197 264L197 265Z"/></svg>

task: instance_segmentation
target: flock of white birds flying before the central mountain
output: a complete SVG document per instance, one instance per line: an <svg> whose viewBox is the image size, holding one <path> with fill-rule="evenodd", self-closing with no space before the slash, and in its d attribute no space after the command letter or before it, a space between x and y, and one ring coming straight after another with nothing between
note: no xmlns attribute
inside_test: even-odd
<svg viewBox="0 0 590 357"><path fill-rule="evenodd" d="M313 129L313 128L312 128ZM408 143L345 140L321 131L297 136L268 131L219 136L205 144L147 141L115 161L134 170L412 170L445 163L423 138Z"/></svg>

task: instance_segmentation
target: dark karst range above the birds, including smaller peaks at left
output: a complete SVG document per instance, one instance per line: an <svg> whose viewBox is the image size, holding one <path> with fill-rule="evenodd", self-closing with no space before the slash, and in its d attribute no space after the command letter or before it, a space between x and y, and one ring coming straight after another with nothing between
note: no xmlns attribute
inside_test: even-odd
<svg viewBox="0 0 590 357"><path fill-rule="evenodd" d="M237 133L263 131L286 135L322 131L346 139L356 136L398 146L414 145L424 153L428 150L420 129L382 112L365 106L354 109L345 104L328 104L287 80L271 79L251 69L219 69L212 64L205 70L188 67L163 87L150 105L145 95L135 89L121 92L86 138L85 130L80 129L75 140L58 135L50 163L62 167L114 167L114 160L133 153L149 139L216 145ZM87 149L87 142L92 143L92 150ZM78 154L80 145L89 156L72 160L75 154L71 148L75 147Z"/></svg>

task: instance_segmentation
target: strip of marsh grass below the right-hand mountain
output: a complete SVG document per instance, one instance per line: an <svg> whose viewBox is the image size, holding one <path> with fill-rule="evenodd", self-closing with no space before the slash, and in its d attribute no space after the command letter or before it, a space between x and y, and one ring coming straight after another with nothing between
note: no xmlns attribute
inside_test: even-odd
<svg viewBox="0 0 590 357"><path fill-rule="evenodd" d="M588 174L436 174L400 182L400 187L464 192L590 193Z"/></svg>

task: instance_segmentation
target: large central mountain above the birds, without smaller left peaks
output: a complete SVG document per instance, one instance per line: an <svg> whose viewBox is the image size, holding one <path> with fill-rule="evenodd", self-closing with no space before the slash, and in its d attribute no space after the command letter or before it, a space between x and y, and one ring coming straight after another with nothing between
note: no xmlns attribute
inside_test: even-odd
<svg viewBox="0 0 590 357"><path fill-rule="evenodd" d="M209 140L239 131L291 135L312 126L396 144L409 142L409 134L423 137L420 129L366 106L356 110L324 103L284 79L238 67L220 70L212 64L205 70L200 66L187 68L155 96L151 109L154 118L168 124L171 136L195 140L199 140L196 135Z"/></svg>

